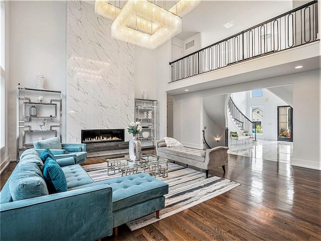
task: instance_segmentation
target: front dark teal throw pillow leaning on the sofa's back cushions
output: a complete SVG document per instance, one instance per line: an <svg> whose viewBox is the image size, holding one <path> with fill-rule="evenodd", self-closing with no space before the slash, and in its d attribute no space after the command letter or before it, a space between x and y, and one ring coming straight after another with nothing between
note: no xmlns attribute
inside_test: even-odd
<svg viewBox="0 0 321 241"><path fill-rule="evenodd" d="M46 180L49 193L67 191L66 176L59 164L50 157L48 157L45 162L44 178Z"/></svg>

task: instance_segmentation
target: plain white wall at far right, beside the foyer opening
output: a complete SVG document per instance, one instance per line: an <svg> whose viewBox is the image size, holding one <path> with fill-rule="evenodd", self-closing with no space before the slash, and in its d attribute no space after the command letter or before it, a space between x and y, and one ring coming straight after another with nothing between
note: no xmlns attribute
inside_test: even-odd
<svg viewBox="0 0 321 241"><path fill-rule="evenodd" d="M320 81L320 70L293 75L293 166L321 170Z"/></svg>

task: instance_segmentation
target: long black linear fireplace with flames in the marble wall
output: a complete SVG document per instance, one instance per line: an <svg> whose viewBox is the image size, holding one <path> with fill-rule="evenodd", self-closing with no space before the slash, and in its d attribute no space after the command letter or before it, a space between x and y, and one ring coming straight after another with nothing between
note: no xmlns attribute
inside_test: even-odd
<svg viewBox="0 0 321 241"><path fill-rule="evenodd" d="M124 129L81 130L81 143L123 142Z"/></svg>

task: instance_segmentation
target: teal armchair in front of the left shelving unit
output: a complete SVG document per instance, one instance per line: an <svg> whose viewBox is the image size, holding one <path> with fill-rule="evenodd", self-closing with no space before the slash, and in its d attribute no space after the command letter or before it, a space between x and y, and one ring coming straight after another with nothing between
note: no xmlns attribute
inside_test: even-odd
<svg viewBox="0 0 321 241"><path fill-rule="evenodd" d="M74 164L83 163L87 158L86 144L60 143L58 137L34 142L34 147L39 155L49 148L56 159L73 157Z"/></svg>

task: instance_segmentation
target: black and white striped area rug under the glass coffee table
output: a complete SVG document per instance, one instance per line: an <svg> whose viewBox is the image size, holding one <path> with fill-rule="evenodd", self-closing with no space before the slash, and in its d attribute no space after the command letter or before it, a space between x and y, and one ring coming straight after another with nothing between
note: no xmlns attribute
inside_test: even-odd
<svg viewBox="0 0 321 241"><path fill-rule="evenodd" d="M121 176L110 171L107 175L107 163L82 166L94 181L106 180ZM209 175L174 163L169 163L168 177L157 177L169 184L169 193L165 195L165 208L161 209L159 219L155 213L127 222L130 230L146 226L160 219L166 218L180 211L193 207L199 203L221 195L241 184L232 180Z"/></svg>

